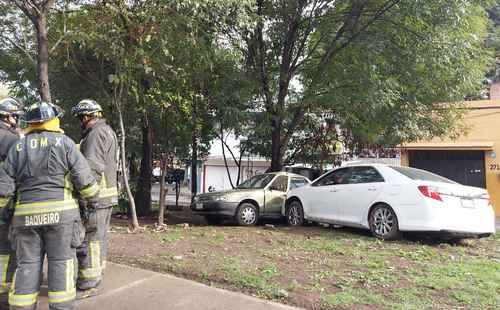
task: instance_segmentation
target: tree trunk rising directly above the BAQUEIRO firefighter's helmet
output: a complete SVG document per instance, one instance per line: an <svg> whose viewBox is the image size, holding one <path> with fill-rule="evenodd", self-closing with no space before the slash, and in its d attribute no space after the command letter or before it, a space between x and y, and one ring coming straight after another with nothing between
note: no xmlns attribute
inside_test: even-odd
<svg viewBox="0 0 500 310"><path fill-rule="evenodd" d="M47 17L39 15L34 21L38 42L38 93L42 101L51 102L49 87L49 45L47 39Z"/></svg>

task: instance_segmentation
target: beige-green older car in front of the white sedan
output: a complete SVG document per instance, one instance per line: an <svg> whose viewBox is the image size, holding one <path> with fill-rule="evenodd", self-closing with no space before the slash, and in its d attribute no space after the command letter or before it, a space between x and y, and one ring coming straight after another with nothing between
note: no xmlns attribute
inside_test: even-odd
<svg viewBox="0 0 500 310"><path fill-rule="evenodd" d="M235 189L196 195L191 210L210 224L230 218L251 226L260 218L280 218L289 189L309 183L306 177L287 172L259 174Z"/></svg>

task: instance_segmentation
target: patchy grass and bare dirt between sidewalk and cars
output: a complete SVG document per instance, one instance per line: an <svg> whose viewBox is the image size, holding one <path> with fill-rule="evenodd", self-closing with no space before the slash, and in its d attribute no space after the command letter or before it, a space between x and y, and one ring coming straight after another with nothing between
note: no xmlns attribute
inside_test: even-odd
<svg viewBox="0 0 500 310"><path fill-rule="evenodd" d="M153 253L118 255L119 237ZM323 227L170 226L111 239L112 260L308 309L500 309L498 235L456 245Z"/></svg>

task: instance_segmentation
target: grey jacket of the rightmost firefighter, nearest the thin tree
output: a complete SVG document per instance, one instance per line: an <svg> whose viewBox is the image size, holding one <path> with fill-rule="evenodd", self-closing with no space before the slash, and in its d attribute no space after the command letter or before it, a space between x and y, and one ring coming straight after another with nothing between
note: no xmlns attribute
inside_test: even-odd
<svg viewBox="0 0 500 310"><path fill-rule="evenodd" d="M83 131L80 151L99 184L99 207L118 204L118 139L106 120L97 118Z"/></svg>

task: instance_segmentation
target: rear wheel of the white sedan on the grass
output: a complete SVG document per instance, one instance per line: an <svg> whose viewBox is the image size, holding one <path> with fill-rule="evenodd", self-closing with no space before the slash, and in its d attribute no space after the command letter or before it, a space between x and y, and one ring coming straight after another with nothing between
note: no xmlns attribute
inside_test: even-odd
<svg viewBox="0 0 500 310"><path fill-rule="evenodd" d="M401 236L396 213L388 205L373 208L369 218L372 234L384 240L394 240Z"/></svg>

